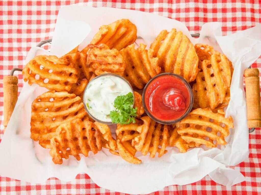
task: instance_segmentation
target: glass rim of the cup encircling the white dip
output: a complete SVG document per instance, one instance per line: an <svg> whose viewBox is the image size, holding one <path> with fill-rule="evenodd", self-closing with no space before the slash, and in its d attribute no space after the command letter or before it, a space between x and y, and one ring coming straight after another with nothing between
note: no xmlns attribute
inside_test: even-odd
<svg viewBox="0 0 261 195"><path fill-rule="evenodd" d="M101 75L99 75L99 76L96 76L96 77L94 77L94 79L92 79L92 80L86 85L86 87L85 87L85 89L84 89L84 94L83 94L83 100L82 100L82 102L83 102L83 104L84 104L84 108L85 108L86 112L88 113L88 115L89 115L93 120L95 120L95 121L97 121L97 122L99 122L99 123L103 123L103 124L106 124L106 125L113 125L113 124L115 124L115 123L107 122L107 121L101 121L101 120L95 118L95 117L89 112L89 110L88 110L88 108L87 108L87 106L86 106L86 104L85 104L85 102L84 102L85 92L86 92L86 89L88 88L88 85L89 85L93 80L95 80L95 79L97 79L97 78L99 78L99 77L102 77L102 76L116 76L116 77L119 77L120 79L122 79L123 81L125 81L125 82L131 87L131 90L132 90L131 92L132 92L132 94L133 94L133 97L134 97L134 91L133 91L133 88L132 88L131 84L130 84L126 79L124 79L124 78L123 78L122 76L120 76L120 75L113 74L113 73L105 73L105 74L101 74Z"/></svg>

